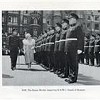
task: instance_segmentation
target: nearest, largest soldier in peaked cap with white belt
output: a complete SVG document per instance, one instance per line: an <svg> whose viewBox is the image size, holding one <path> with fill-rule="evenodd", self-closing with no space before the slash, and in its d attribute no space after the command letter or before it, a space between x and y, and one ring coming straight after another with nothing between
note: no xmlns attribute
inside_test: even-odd
<svg viewBox="0 0 100 100"><path fill-rule="evenodd" d="M67 68L69 67L69 76L65 81L68 83L77 82L78 59L77 54L82 53L84 45L84 34L78 25L79 17L71 13L69 16L70 27L66 34L65 52L67 56Z"/></svg>

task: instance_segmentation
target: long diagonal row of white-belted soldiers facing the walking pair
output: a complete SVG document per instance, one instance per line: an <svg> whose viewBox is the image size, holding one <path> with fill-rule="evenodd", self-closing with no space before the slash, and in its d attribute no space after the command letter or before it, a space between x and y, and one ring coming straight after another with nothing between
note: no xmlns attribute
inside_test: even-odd
<svg viewBox="0 0 100 100"><path fill-rule="evenodd" d="M84 47L84 34L79 17L71 13L62 23L56 23L36 40L35 60L66 82L77 82L78 56Z"/></svg>

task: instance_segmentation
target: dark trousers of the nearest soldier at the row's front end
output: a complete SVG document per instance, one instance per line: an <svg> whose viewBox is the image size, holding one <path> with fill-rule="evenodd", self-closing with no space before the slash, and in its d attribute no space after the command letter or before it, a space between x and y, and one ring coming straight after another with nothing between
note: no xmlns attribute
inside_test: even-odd
<svg viewBox="0 0 100 100"><path fill-rule="evenodd" d="M69 78L72 81L77 81L78 76L78 55L76 50L71 50L66 53L66 67L67 73L69 70Z"/></svg>

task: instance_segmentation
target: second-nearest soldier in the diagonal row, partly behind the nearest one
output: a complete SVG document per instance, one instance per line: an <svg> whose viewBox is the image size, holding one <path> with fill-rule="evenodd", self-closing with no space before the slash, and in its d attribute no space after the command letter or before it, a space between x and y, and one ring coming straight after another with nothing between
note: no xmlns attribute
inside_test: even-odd
<svg viewBox="0 0 100 100"><path fill-rule="evenodd" d="M59 74L58 76L61 78L65 78L68 75L66 75L65 73L65 57L66 57L66 53L65 53L65 39L66 39L66 34L67 34L67 30L69 27L69 21L67 19L63 19L63 23L62 23L62 32L60 35L60 42L59 42L59 52L60 52L60 72L61 74Z"/></svg>

